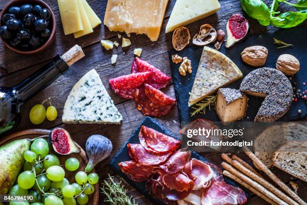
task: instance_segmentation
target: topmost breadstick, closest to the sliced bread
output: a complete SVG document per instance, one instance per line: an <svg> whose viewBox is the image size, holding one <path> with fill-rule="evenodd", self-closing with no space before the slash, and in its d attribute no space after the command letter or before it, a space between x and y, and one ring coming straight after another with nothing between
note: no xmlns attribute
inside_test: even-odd
<svg viewBox="0 0 307 205"><path fill-rule="evenodd" d="M243 151L247 156L253 160L255 164L267 175L269 176L280 188L282 188L285 192L287 192L294 200L296 200L301 205L307 205L305 201L303 201L294 191L292 191L285 183L283 183L271 170L269 170L260 159L254 155L246 146L243 146Z"/></svg>

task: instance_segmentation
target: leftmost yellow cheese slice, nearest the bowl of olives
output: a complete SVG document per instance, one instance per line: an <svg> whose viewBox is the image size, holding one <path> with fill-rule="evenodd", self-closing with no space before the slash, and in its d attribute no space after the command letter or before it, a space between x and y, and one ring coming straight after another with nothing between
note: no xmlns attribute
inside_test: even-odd
<svg viewBox="0 0 307 205"><path fill-rule="evenodd" d="M72 34L83 30L81 14L77 0L58 0L64 34Z"/></svg>

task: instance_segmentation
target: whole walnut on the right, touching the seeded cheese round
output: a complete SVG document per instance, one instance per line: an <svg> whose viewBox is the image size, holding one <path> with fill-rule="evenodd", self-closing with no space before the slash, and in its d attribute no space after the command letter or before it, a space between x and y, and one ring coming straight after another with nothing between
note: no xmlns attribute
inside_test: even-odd
<svg viewBox="0 0 307 205"><path fill-rule="evenodd" d="M299 70L299 61L292 55L282 54L277 59L276 68L285 75L294 75Z"/></svg>

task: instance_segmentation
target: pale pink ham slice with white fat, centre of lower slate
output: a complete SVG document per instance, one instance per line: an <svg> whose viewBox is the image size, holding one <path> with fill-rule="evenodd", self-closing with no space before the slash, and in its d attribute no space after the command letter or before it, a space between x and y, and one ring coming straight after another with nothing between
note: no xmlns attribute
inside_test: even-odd
<svg viewBox="0 0 307 205"><path fill-rule="evenodd" d="M193 190L210 186L211 178L214 176L214 172L210 165L197 159L192 159L186 164L183 168L183 172L194 180Z"/></svg>

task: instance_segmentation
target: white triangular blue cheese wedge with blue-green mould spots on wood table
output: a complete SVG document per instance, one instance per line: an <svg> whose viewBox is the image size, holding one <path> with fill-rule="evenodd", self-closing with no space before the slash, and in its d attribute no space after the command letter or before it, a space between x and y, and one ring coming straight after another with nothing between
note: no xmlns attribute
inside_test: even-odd
<svg viewBox="0 0 307 205"><path fill-rule="evenodd" d="M120 124L122 116L96 70L86 73L72 88L64 106L63 123Z"/></svg>

